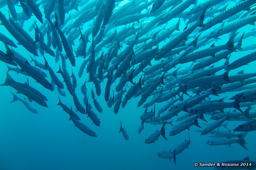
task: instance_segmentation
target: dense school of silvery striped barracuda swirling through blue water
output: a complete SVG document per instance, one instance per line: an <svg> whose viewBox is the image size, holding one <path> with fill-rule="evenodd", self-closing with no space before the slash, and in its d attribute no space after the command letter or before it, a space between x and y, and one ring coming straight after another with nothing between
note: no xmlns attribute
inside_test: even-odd
<svg viewBox="0 0 256 170"><path fill-rule="evenodd" d="M6 5L9 11L3 10ZM245 137L249 131L256 130L256 112L250 111L256 104L256 78L253 78L256 72L240 67L256 60L255 41L243 46L244 39L255 37L256 29L245 32L239 29L254 25L255 0L200 3L196 0L130 0L127 3L122 0L1 0L0 7L1 25L12 35L6 37L0 33L0 41L6 48L5 53L0 51L0 60L8 67L1 86L11 86L17 91L11 92L12 102L20 101L28 110L38 113L34 107L37 104L48 107L48 100L40 90L31 87L28 80L35 80L51 91L57 86L55 90L60 94L57 105L68 113L69 120L79 130L97 137L93 126L100 126L99 113L104 114L104 110L96 95L104 96L114 114L129 100L139 97L137 107L142 106L145 111L140 116L138 133L144 124L163 124L160 131L152 132L145 139L146 144L155 143L160 136L168 140L165 124L173 126L168 132L170 136L195 125L200 128L195 131L214 138L205 141L207 145L237 143L248 150ZM192 8L188 10L189 7ZM34 23L29 30L24 30L23 25L30 18ZM185 23L184 28L180 27L181 22ZM35 37L28 32L33 32ZM224 34L229 36L228 40L219 38ZM79 44L75 45L77 39ZM14 43L15 40L18 43ZM225 43L219 45L220 41ZM23 56L18 46L23 46L32 56ZM241 57L232 55L249 50L249 54ZM47 62L52 57L56 65L60 65L59 70L53 70ZM84 61L77 62L78 57ZM39 58L44 59L44 63L40 63ZM233 62L229 62L230 58ZM215 66L222 59L224 64ZM70 76L66 67L79 67L79 72L72 69ZM234 70L237 74L230 74ZM15 81L9 72L24 74L26 82ZM84 81L81 89L77 87L76 77ZM94 84L93 104L86 82ZM77 97L76 93L80 92L84 99ZM229 92L236 95L229 96ZM60 100L69 95L73 96L73 107ZM212 96L219 95L225 97L211 100ZM160 108L156 108L157 103L162 103ZM86 116L94 125L82 123ZM198 119L204 124L198 124ZM227 128L228 121L237 121L238 126L229 131L219 130L220 126ZM121 122L120 126L119 133L128 140ZM173 150L167 147L167 151L158 152L157 156L173 158L176 165L176 155L189 145L188 133L180 145ZM255 168L255 162L253 166Z"/></svg>

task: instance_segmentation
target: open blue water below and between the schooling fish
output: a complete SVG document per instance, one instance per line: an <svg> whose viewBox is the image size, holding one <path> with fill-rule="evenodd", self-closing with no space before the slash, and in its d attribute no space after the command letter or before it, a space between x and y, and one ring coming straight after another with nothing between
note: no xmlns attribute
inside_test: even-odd
<svg viewBox="0 0 256 170"><path fill-rule="evenodd" d="M201 1L199 1L201 2ZM234 3L230 3L232 6ZM15 7L19 12L20 7ZM191 8L191 7L190 7ZM188 10L190 9L188 8ZM18 10L19 9L19 10ZM42 8L40 7L41 11ZM1 9L1 11L8 16L7 6ZM67 14L66 14L67 15ZM8 18L8 17L7 17ZM33 19L36 20L35 16L25 21L24 29L28 30L30 25L33 23ZM170 24L176 23L177 18L173 19ZM150 20L150 18L148 19ZM39 22L37 22L38 25ZM87 25L84 25L84 30ZM138 26L138 25L137 25ZM185 27L184 22L180 24L180 29ZM239 32L251 30L255 26L247 25L239 29ZM1 33L4 33L7 37L12 39L16 44L17 41L12 35L0 25ZM34 31L29 32L30 36L34 38ZM80 36L79 36L80 37ZM91 38L91 37L90 37ZM220 36L219 42L215 45L221 45L228 41L228 34ZM249 37L243 40L243 46L247 46L255 43L255 37ZM78 39L75 44L78 44ZM87 48L90 46L88 43ZM207 48L209 46L205 46ZM76 47L75 47L76 48ZM124 46L125 48L125 46ZM5 51L4 44L0 42L0 50ZM22 46L18 45L18 49L15 49L26 57L30 61L28 51ZM253 50L236 52L231 54L230 63L239 57L246 54L252 53ZM98 55L100 56L100 54ZM54 58L48 54L45 54L49 65L52 69L57 72L59 70L59 63L55 63ZM97 56L96 56L97 58ZM37 57L41 63L44 63L43 57ZM81 57L76 58L76 67L73 67L74 73L78 74L80 64L84 61ZM225 60L221 60L215 66L219 66L224 63ZM61 62L61 61L60 61ZM152 63L153 64L153 63ZM185 68L188 64L179 65ZM71 75L71 65L67 60L67 69ZM236 74L239 70L244 69L245 73L255 72L256 62L251 62L249 65L239 67L232 70L230 74ZM2 84L6 77L7 67L5 63L0 62L0 83ZM221 74L222 72L220 72ZM16 74L10 72L10 75L15 81L25 82L26 76L22 74ZM50 81L50 75L48 80ZM57 74L61 78L60 74ZM83 104L83 95L80 92L80 87L84 83L85 79L88 78L86 73L83 74L82 78L78 79L77 76L77 96L80 103ZM138 81L138 77L135 81ZM93 110L100 118L100 127L92 124L86 115L82 115L77 112L79 117L82 119L82 123L86 124L97 134L97 138L92 138L82 131L74 128L72 121L68 121L69 115L62 111L60 106L57 106L59 102L57 87L55 86L54 92L44 89L40 84L36 83L32 78L29 78L30 86L41 91L48 98L49 108L44 108L37 103L33 102L32 105L38 110L39 114L31 113L27 110L21 102L10 103L12 101L11 92L16 92L9 86L0 87L0 170L155 170L155 169L214 169L213 167L195 167L195 162L203 163L217 163L226 160L237 160L244 159L246 156L250 156L251 160L256 160L256 132L249 132L245 140L249 151L246 151L238 144L232 144L232 147L228 145L211 146L206 145L205 142L211 138L209 135L202 136L200 133L192 131L198 129L196 126L192 126L189 131L191 138L191 146L189 149L185 149L182 153L176 156L177 165L175 166L173 160L170 162L169 159L158 158L156 153L160 151L168 151L171 148L176 147L182 143L185 139L188 139L188 130L183 131L181 134L176 136L168 136L172 126L167 124L165 126L166 137L168 141L164 140L161 136L156 144L145 144L145 139L155 132L157 129L160 130L162 125L151 125L144 124L144 130L139 135L137 133L138 127L140 127L140 115L143 114L144 109L142 107L137 108L137 103L140 100L138 98L132 98L128 101L127 105L122 109L120 107L119 113L114 114L113 108L108 108L104 100L104 89L106 85L106 79L101 83L101 95L96 96L97 101L103 108L103 113L96 112L94 106ZM118 81L117 81L118 82ZM115 83L111 87L115 90ZM130 83L129 83L130 85ZM65 85L64 85L65 86ZM92 88L92 82L86 83L88 89L87 95L89 96L89 102L92 104L92 98L90 90ZM94 88L94 87L93 87ZM68 94L66 97L61 98L61 102L66 104L68 107L74 107L73 98ZM116 92L115 92L116 94ZM226 93L220 95L233 96L236 92ZM20 98L24 98L21 94L18 94ZM187 96L186 96L187 97ZM216 96L211 96L212 99L217 99ZM147 100L149 101L149 99ZM228 100L227 100L228 101ZM157 103L156 110L159 110L165 103ZM93 104L92 104L93 105ZM150 108L151 110L151 108ZM229 109L226 109L229 110ZM232 109L233 110L233 109ZM242 108L245 110L245 108ZM255 106L252 106L251 111L256 111ZM180 112L179 116L185 112ZM209 120L210 116L205 116ZM174 117L176 119L176 117ZM122 137L122 133L118 133L120 128L120 120L122 125L129 135L129 140L126 141ZM212 121L212 120L210 120ZM229 121L228 129L233 130L242 121ZM202 124L199 120L199 124L202 127L206 125ZM220 130L226 130L220 127Z"/></svg>

